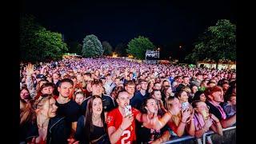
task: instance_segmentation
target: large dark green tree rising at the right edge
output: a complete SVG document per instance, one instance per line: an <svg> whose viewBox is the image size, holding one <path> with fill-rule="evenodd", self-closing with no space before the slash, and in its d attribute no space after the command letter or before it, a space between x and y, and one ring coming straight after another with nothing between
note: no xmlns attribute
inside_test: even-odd
<svg viewBox="0 0 256 144"><path fill-rule="evenodd" d="M220 60L228 59L234 61L236 59L236 26L229 20L218 20L216 26L210 26L199 41L195 43L194 50L186 56L194 62L198 60Z"/></svg>

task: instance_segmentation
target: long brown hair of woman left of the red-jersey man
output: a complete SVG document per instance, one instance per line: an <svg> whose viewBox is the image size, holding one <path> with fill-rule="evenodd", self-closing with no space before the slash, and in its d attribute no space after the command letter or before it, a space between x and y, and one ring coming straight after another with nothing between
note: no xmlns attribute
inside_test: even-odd
<svg viewBox="0 0 256 144"><path fill-rule="evenodd" d="M85 134L86 134L86 139L90 141L90 133L94 131L94 126L93 126L93 102L95 98L100 98L98 95L93 95L90 97L90 99L87 102L87 107L86 107L86 118L85 118ZM103 104L103 103L102 103ZM105 115L103 111L103 106L102 106L102 114L101 114L101 120L103 124L104 131L106 132L106 122L105 122Z"/></svg>

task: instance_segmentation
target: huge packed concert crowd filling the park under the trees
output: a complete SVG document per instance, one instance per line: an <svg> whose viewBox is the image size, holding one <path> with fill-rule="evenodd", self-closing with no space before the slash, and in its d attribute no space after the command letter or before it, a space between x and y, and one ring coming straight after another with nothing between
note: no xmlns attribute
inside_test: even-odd
<svg viewBox="0 0 256 144"><path fill-rule="evenodd" d="M20 143L161 143L235 124L235 70L122 58L20 66Z"/></svg>

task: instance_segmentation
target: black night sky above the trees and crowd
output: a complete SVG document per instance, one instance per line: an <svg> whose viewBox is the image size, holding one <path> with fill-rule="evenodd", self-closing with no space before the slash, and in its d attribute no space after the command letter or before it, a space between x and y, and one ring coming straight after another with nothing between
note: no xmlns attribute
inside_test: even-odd
<svg viewBox="0 0 256 144"><path fill-rule="evenodd" d="M178 56L184 57L192 50L198 35L214 26L218 19L226 18L236 24L235 5L231 0L26 0L22 1L21 12L33 14L46 29L64 34L66 42L82 44L86 35L94 34L101 42L110 42L115 47L142 35L161 47L165 56L175 50L177 53L182 45L182 54Z"/></svg>

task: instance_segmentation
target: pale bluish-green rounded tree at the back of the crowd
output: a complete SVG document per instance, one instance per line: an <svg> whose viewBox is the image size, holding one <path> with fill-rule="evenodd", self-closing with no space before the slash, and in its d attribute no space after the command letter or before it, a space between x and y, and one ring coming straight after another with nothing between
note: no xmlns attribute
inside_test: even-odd
<svg viewBox="0 0 256 144"><path fill-rule="evenodd" d="M86 58L100 57L103 52L102 43L94 34L87 35L83 39L82 55Z"/></svg>

